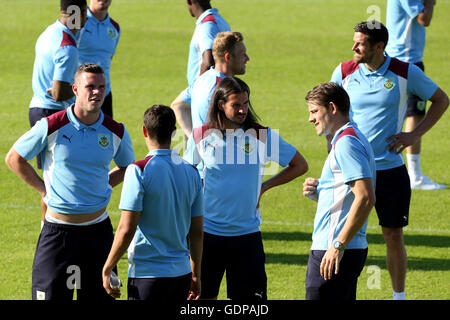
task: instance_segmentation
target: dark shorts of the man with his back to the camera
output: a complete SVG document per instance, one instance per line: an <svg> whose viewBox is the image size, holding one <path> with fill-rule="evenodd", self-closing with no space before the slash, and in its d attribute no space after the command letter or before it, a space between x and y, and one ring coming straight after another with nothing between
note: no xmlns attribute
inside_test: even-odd
<svg viewBox="0 0 450 320"><path fill-rule="evenodd" d="M128 300L183 302L187 300L192 274L173 278L129 278Z"/></svg>

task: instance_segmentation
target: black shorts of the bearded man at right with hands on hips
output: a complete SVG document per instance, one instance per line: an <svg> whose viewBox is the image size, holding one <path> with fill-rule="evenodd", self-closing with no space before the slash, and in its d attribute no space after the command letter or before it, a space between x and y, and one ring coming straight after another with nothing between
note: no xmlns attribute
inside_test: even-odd
<svg viewBox="0 0 450 320"><path fill-rule="evenodd" d="M405 165L377 170L375 195L380 226L402 228L408 225L411 185Z"/></svg>

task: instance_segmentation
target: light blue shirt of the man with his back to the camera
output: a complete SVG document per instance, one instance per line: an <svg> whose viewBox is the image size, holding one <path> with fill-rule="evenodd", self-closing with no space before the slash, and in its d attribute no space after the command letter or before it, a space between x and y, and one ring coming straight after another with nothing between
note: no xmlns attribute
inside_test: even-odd
<svg viewBox="0 0 450 320"><path fill-rule="evenodd" d="M191 219L203 215L202 182L176 150L152 150L129 165L119 207L141 212L128 247L130 278L191 272L187 235Z"/></svg>

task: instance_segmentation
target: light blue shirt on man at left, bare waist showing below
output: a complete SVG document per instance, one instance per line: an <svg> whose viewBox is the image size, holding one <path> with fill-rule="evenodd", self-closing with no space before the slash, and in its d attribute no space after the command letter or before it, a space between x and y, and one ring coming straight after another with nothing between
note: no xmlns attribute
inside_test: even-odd
<svg viewBox="0 0 450 320"><path fill-rule="evenodd" d="M39 120L13 148L26 160L41 154L47 190L44 201L51 210L92 213L109 203L111 160L127 167L134 152L123 124L101 112L97 122L87 126L72 109Z"/></svg>

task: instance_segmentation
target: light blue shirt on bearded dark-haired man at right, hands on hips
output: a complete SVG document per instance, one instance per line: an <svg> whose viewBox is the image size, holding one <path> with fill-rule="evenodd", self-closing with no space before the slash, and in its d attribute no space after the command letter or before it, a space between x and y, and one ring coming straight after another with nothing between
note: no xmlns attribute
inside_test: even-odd
<svg viewBox="0 0 450 320"><path fill-rule="evenodd" d="M369 140L377 170L404 164L401 154L389 151L387 146L391 142L387 139L402 130L408 96L428 100L438 88L414 64L387 54L385 57L384 63L373 72L364 63L342 62L331 77L350 96L350 119Z"/></svg>

